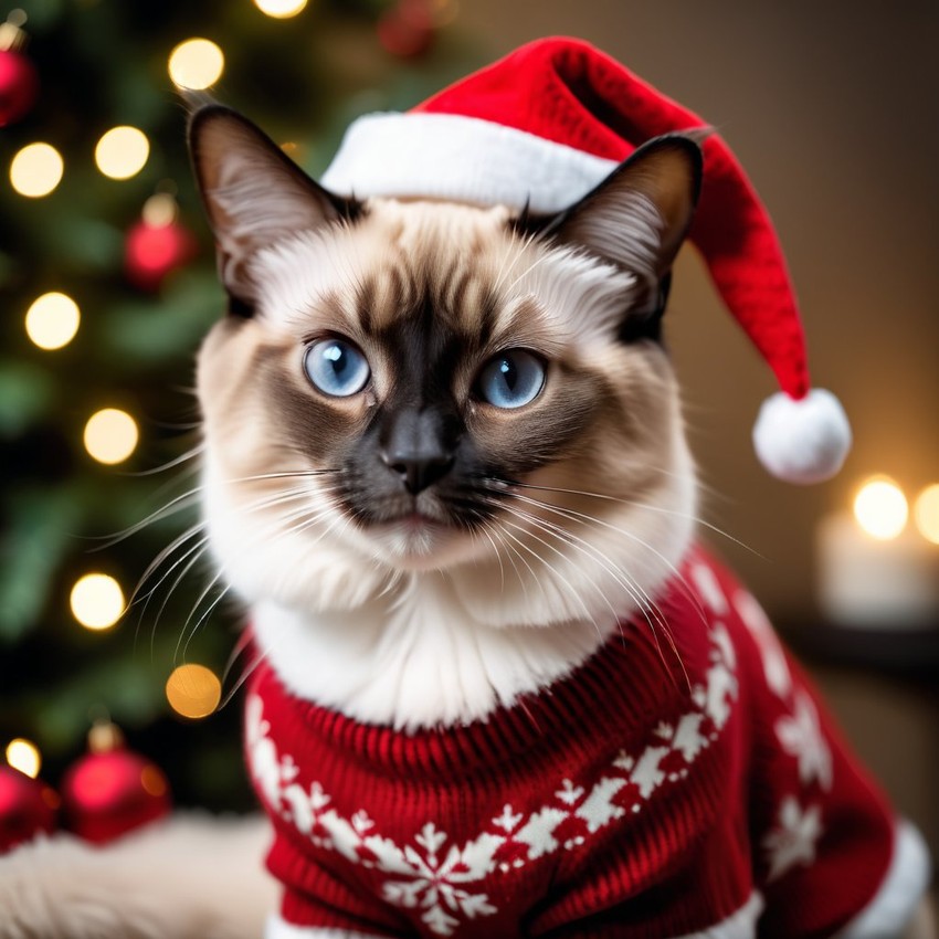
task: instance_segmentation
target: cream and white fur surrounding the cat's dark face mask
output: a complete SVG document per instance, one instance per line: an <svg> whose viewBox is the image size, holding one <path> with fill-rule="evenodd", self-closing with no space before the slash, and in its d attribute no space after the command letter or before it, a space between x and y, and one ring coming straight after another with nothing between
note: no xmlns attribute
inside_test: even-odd
<svg viewBox="0 0 939 939"><path fill-rule="evenodd" d="M637 201L643 278L651 212ZM264 298L256 321L202 351L204 510L222 579L251 608L261 647L292 689L361 720L415 728L484 718L568 674L621 619L644 614L660 629L652 598L690 539L694 470L671 367L657 348L614 341L614 314L635 275L515 239L505 218L500 209L377 201L356 229L275 244L252 268ZM462 265L470 284L498 285L496 348L541 349L570 369L595 370L612 390L579 445L526 481L544 489L520 489L516 514L479 532L403 523L362 531L330 502L328 481L289 479L302 492L268 508L259 504L275 483L239 482L306 465L273 442L272 415L252 394L251 350L289 348L329 325L372 352L342 298L386 268L391 246L405 276L408 264L431 279ZM373 315L397 314L383 309L377 300ZM454 309L476 315L466 297ZM380 399L394 363L369 358ZM468 394L471 380L455 376L458 393ZM557 398L544 407L565 420L563 381L552 381L545 395Z"/></svg>

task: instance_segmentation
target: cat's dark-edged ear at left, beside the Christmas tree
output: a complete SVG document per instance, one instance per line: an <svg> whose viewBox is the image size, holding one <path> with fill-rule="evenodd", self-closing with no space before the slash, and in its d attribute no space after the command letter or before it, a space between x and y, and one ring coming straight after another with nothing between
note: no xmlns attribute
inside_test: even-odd
<svg viewBox="0 0 939 939"><path fill-rule="evenodd" d="M215 235L219 276L241 315L251 314L255 299L247 262L256 251L360 210L358 202L325 190L264 131L223 105L204 104L192 113L189 151Z"/></svg>

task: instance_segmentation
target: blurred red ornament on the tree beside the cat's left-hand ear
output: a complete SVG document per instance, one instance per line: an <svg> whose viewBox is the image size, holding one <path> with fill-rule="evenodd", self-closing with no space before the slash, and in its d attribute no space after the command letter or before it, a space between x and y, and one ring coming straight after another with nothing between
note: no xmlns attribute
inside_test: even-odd
<svg viewBox="0 0 939 939"><path fill-rule="evenodd" d="M156 291L163 278L196 254L196 239L177 221L176 200L169 193L151 196L139 222L127 232L124 267L141 291Z"/></svg>

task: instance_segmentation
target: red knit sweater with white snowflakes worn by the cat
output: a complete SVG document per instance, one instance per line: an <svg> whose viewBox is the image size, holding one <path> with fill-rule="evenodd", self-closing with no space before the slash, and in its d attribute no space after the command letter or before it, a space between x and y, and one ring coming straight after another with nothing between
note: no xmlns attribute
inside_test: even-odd
<svg viewBox="0 0 939 939"><path fill-rule="evenodd" d="M246 742L276 837L276 935L833 935L893 820L753 599L700 551L574 674L407 734L292 697L262 664ZM738 931L739 929L739 931ZM349 930L345 932L341 930ZM272 933L273 935L273 933Z"/></svg>

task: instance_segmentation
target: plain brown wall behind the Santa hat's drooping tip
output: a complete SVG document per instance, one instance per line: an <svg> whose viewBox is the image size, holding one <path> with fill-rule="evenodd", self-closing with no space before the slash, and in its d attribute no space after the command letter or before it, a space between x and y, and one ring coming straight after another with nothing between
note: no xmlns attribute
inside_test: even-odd
<svg viewBox="0 0 939 939"><path fill-rule="evenodd" d="M587 39L715 124L776 221L817 384L852 418L843 474L811 489L751 454L769 370L693 252L669 341L704 478L711 542L771 612L811 610L813 535L856 482L939 481L939 4L462 0L494 56L539 35Z"/></svg>

